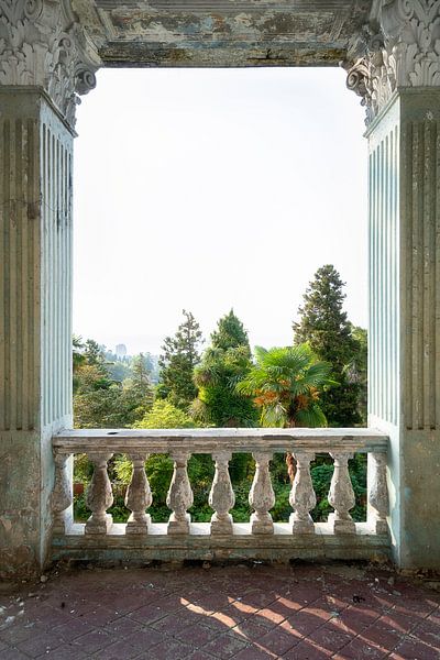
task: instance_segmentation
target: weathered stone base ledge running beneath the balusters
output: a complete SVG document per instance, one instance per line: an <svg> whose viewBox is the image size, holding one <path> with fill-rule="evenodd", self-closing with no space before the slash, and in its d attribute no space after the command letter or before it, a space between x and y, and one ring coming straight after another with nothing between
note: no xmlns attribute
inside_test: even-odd
<svg viewBox="0 0 440 660"><path fill-rule="evenodd" d="M356 534L334 535L328 522L318 522L316 534L292 534L288 522L275 522L274 534L253 535L250 522L234 524L233 534L210 535L209 522L191 522L190 534L172 536L167 524L152 524L146 535L127 535L116 524L110 534L85 535L85 525L74 524L67 535L54 535L52 560L128 562L226 561L255 559L288 562L305 560L370 560L391 557L389 537L376 535L367 522L355 524Z"/></svg>

